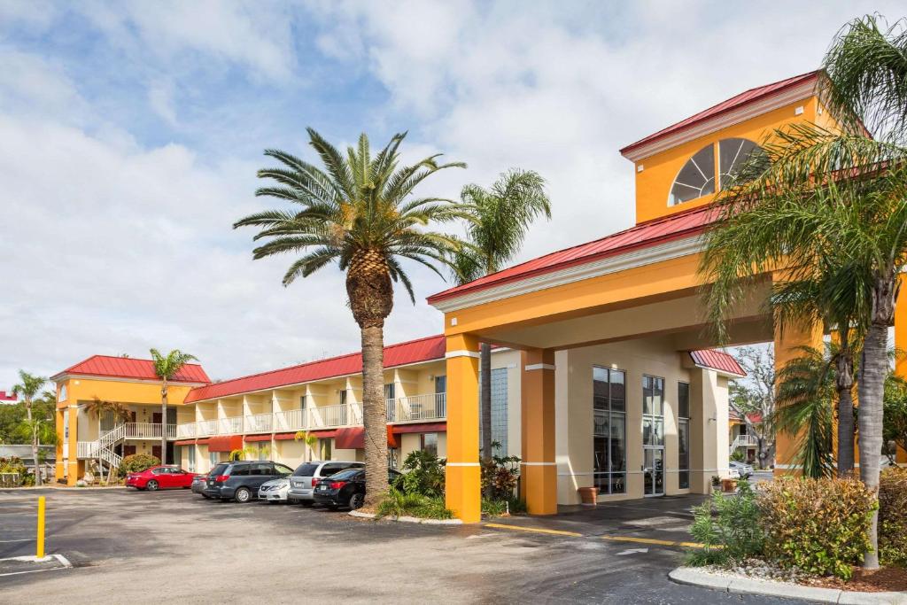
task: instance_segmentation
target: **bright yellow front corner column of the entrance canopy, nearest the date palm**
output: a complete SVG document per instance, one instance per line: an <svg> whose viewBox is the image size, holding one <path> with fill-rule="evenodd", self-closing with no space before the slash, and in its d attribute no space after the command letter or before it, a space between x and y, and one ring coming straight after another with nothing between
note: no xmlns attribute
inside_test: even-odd
<svg viewBox="0 0 907 605"><path fill-rule="evenodd" d="M479 467L479 340L447 337L447 473L445 500L464 523L482 520Z"/></svg>

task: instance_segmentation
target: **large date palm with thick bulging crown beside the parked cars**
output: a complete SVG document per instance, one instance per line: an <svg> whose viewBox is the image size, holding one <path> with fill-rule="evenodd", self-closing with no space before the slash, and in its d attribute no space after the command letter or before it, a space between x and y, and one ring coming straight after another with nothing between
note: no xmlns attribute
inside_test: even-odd
<svg viewBox="0 0 907 605"><path fill-rule="evenodd" d="M238 220L233 227L258 227L254 259L306 252L284 275L288 286L336 262L346 273L346 295L362 340L363 420L366 428L366 505L387 491L387 437L384 399L384 325L394 307L394 283L414 301L413 287L401 266L414 260L440 274L438 265L462 247L457 239L426 229L431 222L464 218L453 200L414 197L419 183L437 171L465 164L439 163L440 154L401 165L398 149L405 133L395 134L373 156L362 134L346 156L313 129L309 144L324 168L286 151L265 155L281 166L258 171L274 181L256 195L288 200L295 210L266 210Z"/></svg>

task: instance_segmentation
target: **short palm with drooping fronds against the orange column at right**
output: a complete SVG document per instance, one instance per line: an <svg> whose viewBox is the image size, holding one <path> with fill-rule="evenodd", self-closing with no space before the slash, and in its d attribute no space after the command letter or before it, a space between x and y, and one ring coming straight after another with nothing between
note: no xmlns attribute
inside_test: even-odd
<svg viewBox="0 0 907 605"><path fill-rule="evenodd" d="M777 430L795 439L793 462L805 476L831 477L834 475L834 360L827 347L824 351L812 346L798 348L802 355L791 359L778 372L775 397L778 407L773 421Z"/></svg>

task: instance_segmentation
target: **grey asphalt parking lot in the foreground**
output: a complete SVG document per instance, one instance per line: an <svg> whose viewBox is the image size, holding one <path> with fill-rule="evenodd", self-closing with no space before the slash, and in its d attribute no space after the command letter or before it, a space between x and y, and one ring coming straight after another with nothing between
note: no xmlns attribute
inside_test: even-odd
<svg viewBox="0 0 907 605"><path fill-rule="evenodd" d="M357 520L185 490L2 491L0 558L34 553L39 494L47 496L47 550L73 568L0 577L0 602L790 602L675 585L667 573L678 548L602 539L663 538L658 522L629 522L668 515L682 525L687 501L676 511L667 500L636 501L613 515L493 527ZM571 531L532 531L561 525Z"/></svg>

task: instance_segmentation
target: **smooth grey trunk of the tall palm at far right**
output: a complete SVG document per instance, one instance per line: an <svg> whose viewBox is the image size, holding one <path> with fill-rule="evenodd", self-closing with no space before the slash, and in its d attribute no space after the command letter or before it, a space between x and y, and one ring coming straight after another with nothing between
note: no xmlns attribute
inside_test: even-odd
<svg viewBox="0 0 907 605"><path fill-rule="evenodd" d="M896 278L895 278L896 279ZM888 373L888 326L897 298L894 283L879 279L873 288L873 319L863 341L860 366L860 479L872 493L879 493L879 466L882 457L882 415L885 376ZM863 557L863 569L879 568L879 512L873 512L869 531L870 551Z"/></svg>

